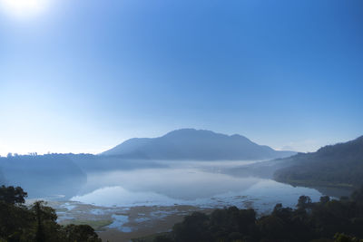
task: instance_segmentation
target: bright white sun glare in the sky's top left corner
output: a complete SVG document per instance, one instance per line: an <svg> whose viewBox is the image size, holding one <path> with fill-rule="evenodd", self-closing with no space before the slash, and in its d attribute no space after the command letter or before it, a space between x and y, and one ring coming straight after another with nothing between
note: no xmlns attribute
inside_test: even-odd
<svg viewBox="0 0 363 242"><path fill-rule="evenodd" d="M0 0L5 13L16 17L29 17L44 12L47 0Z"/></svg>

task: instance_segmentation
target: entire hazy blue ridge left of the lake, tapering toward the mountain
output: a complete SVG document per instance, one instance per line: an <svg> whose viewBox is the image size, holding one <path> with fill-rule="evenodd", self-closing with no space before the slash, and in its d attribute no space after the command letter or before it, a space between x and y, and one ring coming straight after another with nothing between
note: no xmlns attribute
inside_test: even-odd
<svg viewBox="0 0 363 242"><path fill-rule="evenodd" d="M87 190L87 175L94 172L165 167L152 160L126 160L118 156L15 155L0 157L0 186L20 186L30 198L64 195L62 199L67 199Z"/></svg>

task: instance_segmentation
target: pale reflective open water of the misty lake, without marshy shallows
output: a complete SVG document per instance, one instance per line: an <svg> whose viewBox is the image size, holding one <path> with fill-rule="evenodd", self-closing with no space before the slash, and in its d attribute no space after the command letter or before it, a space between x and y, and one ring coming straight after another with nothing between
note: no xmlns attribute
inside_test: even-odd
<svg viewBox="0 0 363 242"><path fill-rule="evenodd" d="M253 174L236 177L223 172L256 162L159 161L167 167L92 172L71 200L105 207L191 205L269 210L276 203L294 207L300 195L313 200L321 196L315 189L294 188Z"/></svg>

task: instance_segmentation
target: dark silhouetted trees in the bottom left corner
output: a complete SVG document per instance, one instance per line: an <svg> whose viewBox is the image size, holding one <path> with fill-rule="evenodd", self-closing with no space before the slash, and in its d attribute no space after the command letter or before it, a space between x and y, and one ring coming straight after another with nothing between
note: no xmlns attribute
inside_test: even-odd
<svg viewBox="0 0 363 242"><path fill-rule="evenodd" d="M19 187L0 187L0 241L21 242L99 242L87 225L57 224L54 208L36 201L25 207L27 193Z"/></svg>

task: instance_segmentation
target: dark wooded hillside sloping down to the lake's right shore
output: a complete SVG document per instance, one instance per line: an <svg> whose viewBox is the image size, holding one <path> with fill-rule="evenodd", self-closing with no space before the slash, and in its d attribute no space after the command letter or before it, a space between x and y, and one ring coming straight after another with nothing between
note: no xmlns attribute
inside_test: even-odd
<svg viewBox="0 0 363 242"><path fill-rule="evenodd" d="M329 145L313 153L299 153L280 163L274 179L293 185L354 188L363 185L363 136Z"/></svg>

